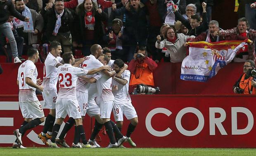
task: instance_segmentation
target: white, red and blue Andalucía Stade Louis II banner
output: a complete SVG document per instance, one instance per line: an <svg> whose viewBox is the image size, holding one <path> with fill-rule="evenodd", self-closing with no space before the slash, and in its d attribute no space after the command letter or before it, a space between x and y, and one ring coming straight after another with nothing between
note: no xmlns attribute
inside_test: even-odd
<svg viewBox="0 0 256 156"><path fill-rule="evenodd" d="M189 55L181 65L180 79L206 82L235 57L242 41L190 42Z"/></svg>

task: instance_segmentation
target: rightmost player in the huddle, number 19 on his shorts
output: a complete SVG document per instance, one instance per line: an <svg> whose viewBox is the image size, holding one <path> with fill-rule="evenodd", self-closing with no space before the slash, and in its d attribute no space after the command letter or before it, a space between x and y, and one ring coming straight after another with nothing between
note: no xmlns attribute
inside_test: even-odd
<svg viewBox="0 0 256 156"><path fill-rule="evenodd" d="M118 73L123 68L124 62L120 59L116 59L114 62L114 70ZM132 147L136 147L136 144L130 138L130 135L135 130L135 127L138 124L138 116L135 108L133 107L130 95L128 93L129 90L129 80L130 80L130 71L125 70L121 78L113 77L112 85L117 86L117 89L113 89L112 92L115 97L113 114L117 124L117 127L121 131L123 126L123 115L126 116L128 120L130 120L130 124L126 133L126 141Z"/></svg>

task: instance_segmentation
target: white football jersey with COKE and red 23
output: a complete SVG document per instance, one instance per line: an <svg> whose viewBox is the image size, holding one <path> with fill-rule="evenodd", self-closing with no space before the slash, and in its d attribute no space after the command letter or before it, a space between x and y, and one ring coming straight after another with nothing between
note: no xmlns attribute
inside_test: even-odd
<svg viewBox="0 0 256 156"><path fill-rule="evenodd" d="M71 64L64 64L57 68L59 79L59 92L57 99L76 99L76 81L78 76L83 76L88 73L78 67L73 67Z"/></svg>

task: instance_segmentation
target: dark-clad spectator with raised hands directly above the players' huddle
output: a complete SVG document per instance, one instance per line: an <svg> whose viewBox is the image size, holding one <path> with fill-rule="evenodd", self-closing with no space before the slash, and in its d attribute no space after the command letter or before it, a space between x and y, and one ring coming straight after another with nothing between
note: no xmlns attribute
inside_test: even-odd
<svg viewBox="0 0 256 156"><path fill-rule="evenodd" d="M108 33L104 35L104 43L111 49L112 58L117 58L127 62L128 46L123 46L129 42L126 29L123 27L122 21L119 18L115 18L112 22L112 28Z"/></svg>

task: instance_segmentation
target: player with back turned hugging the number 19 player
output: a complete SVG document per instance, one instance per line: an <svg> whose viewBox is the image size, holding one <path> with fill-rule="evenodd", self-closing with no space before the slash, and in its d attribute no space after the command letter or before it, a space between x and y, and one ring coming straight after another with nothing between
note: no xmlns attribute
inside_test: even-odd
<svg viewBox="0 0 256 156"><path fill-rule="evenodd" d="M109 63L109 57L104 54L98 57L98 60L104 65L107 65ZM113 71L113 73L115 74L116 72ZM102 119L102 123L106 128L106 132L110 140L108 148L120 147L122 143L126 140L126 137L121 134L116 124L114 124L114 122L110 120L111 112L114 106L114 95L111 90L112 77L102 72L96 73L92 78L90 78L90 82L95 81L97 81L96 85L98 94L96 98L96 103L100 105L100 118ZM113 130L119 138L119 141L117 143L114 138Z"/></svg>

